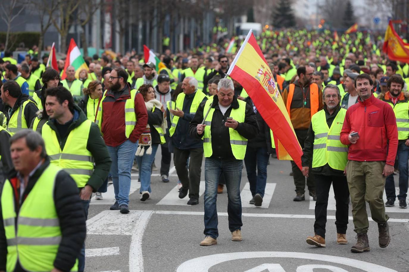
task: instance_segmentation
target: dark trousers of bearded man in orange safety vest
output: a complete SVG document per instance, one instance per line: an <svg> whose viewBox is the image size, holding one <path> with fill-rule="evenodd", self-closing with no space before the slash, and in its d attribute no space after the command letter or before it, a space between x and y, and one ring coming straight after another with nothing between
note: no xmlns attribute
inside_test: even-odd
<svg viewBox="0 0 409 272"><path fill-rule="evenodd" d="M307 138L308 129L296 129L294 131L295 135L297 135L297 139L301 145L301 148L304 148L304 141ZM306 177L304 177L300 168L298 168L297 164L295 164L294 161L291 161L291 166L295 184L295 192L303 194L305 193L306 189ZM311 168L312 166L310 165L310 169ZM310 177L307 178L307 187L308 191L315 191L314 175L312 175L312 173L310 173Z"/></svg>

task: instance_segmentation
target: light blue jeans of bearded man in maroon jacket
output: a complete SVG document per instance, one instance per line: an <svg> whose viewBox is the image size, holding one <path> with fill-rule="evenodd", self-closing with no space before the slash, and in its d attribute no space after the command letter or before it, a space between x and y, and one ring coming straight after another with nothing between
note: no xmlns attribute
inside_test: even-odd
<svg viewBox="0 0 409 272"><path fill-rule="evenodd" d="M137 143L126 140L119 146L107 146L111 156L111 175L114 184L115 200L118 205L129 204L130 170L137 149Z"/></svg>

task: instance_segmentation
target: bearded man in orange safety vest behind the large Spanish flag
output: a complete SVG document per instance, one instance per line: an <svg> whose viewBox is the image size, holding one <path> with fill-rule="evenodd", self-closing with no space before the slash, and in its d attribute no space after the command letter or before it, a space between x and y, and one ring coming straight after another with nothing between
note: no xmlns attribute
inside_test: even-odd
<svg viewBox="0 0 409 272"><path fill-rule="evenodd" d="M318 85L311 83L313 69L310 66L300 66L297 69L298 80L287 86L282 94L284 104L290 115L292 126L297 135L301 148L310 127L311 117L323 108L322 92ZM295 192L294 201L305 200L306 179L294 161L291 161L294 177ZM310 167L311 168L311 167ZM317 200L315 195L314 176L307 177L307 186L310 196Z"/></svg>

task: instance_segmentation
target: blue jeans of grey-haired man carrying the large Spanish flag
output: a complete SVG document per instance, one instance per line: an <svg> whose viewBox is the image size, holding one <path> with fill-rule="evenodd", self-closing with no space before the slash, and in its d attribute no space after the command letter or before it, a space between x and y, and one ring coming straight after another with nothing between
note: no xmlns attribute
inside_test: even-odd
<svg viewBox="0 0 409 272"><path fill-rule="evenodd" d="M241 230L241 199L240 180L243 161L239 159L205 158L205 231L206 236L216 239L219 236L217 229L217 186L220 173L223 171L227 189L227 213L229 215L229 230Z"/></svg>

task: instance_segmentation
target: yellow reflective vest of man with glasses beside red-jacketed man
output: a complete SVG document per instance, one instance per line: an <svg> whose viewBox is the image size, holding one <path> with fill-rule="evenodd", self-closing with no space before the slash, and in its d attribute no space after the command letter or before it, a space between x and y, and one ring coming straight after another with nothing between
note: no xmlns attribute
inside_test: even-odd
<svg viewBox="0 0 409 272"><path fill-rule="evenodd" d="M319 111L312 116L312 130L315 133L312 153L312 168L328 165L337 170L344 170L348 161L348 146L341 143L339 134L344 124L346 109L341 108L328 128L326 113Z"/></svg>

